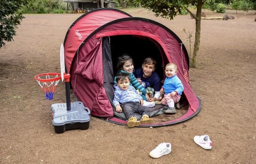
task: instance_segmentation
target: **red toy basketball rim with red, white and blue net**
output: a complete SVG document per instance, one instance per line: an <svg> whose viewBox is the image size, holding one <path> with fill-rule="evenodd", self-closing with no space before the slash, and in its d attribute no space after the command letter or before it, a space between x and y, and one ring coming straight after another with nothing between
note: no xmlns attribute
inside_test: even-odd
<svg viewBox="0 0 256 164"><path fill-rule="evenodd" d="M64 73L63 78L65 82L69 82L70 74ZM48 100L53 99L53 94L59 80L61 79L61 73L41 73L35 76L38 84L41 86L45 93L45 98Z"/></svg>

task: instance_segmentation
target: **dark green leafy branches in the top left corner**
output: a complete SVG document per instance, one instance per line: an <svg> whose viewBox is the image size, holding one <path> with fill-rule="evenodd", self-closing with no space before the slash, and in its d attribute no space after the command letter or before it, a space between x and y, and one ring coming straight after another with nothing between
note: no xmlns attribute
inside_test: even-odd
<svg viewBox="0 0 256 164"><path fill-rule="evenodd" d="M29 0L0 0L0 48L5 42L11 42L13 36L17 35L15 29L23 18L22 13L16 13L23 4Z"/></svg>

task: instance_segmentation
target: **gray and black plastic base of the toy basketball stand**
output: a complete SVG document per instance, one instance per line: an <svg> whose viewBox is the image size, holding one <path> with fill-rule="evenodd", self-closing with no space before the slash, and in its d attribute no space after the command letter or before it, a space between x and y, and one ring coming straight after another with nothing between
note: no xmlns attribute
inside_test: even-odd
<svg viewBox="0 0 256 164"><path fill-rule="evenodd" d="M64 133L66 130L89 128L90 109L81 101L71 102L71 110L67 110L66 103L52 104L52 124L55 133Z"/></svg>

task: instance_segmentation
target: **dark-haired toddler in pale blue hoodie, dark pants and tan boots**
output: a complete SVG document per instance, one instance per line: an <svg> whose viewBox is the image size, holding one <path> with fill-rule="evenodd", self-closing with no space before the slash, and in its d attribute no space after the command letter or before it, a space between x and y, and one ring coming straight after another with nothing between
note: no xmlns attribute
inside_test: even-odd
<svg viewBox="0 0 256 164"><path fill-rule="evenodd" d="M140 124L152 124L154 120L149 118L150 109L142 106L143 98L138 94L133 86L130 86L130 78L127 73L119 73L116 76L116 84L114 84L114 100L113 104L117 112L122 112L127 118L127 126L133 128ZM121 107L122 106L122 107ZM134 113L142 115L140 121L137 120Z"/></svg>

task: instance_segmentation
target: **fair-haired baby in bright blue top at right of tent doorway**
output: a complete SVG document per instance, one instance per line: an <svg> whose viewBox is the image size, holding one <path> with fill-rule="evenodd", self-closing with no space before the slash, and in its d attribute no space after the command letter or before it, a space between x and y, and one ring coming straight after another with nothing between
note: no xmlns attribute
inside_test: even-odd
<svg viewBox="0 0 256 164"><path fill-rule="evenodd" d="M164 80L164 86L160 89L160 93L165 91L164 98L161 100L163 105L168 105L163 109L166 109L164 113L176 113L174 103L179 102L180 95L184 89L183 84L179 77L177 77L178 70L174 63L168 63L165 67L166 79Z"/></svg>

